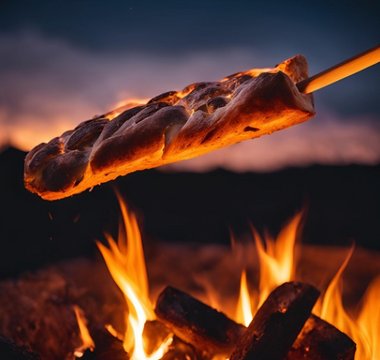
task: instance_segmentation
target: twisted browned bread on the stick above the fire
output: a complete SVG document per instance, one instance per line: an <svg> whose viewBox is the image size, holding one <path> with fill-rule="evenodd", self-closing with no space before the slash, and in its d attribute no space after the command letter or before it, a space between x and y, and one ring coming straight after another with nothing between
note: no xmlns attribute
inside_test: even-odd
<svg viewBox="0 0 380 360"><path fill-rule="evenodd" d="M295 56L272 69L253 69L159 95L145 105L79 124L25 159L25 187L46 200L80 193L121 175L190 159L302 123L314 116L308 77Z"/></svg>

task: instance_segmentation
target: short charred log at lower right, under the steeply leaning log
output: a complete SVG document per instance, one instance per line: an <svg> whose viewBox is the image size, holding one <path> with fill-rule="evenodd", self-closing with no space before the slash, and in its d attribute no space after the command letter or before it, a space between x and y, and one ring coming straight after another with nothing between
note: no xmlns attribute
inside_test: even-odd
<svg viewBox="0 0 380 360"><path fill-rule="evenodd" d="M333 325L311 315L286 360L354 360L356 344Z"/></svg>

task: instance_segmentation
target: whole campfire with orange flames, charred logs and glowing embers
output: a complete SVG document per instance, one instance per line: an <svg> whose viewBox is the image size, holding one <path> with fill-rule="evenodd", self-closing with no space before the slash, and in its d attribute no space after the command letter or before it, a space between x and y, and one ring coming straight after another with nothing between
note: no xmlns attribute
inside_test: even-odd
<svg viewBox="0 0 380 360"><path fill-rule="evenodd" d="M328 279L329 284L326 279L318 281L315 276L321 271L312 268L312 257L305 264L302 259L307 248L296 242L303 212L296 214L276 239L269 235L262 238L253 227L253 239L248 244L239 242L232 235L230 250L220 252L214 248L209 253L207 263L212 270L207 276L202 271L197 274L194 269L191 274L176 274L175 284L163 278L161 272L167 271L170 265L165 265L162 260L168 255L165 250L179 259L178 252L183 249L170 250L170 246L165 245L161 254L155 255L154 267L158 271L152 276L153 283L149 283L137 220L120 195L119 201L123 221L118 240L106 234L107 246L97 242L119 289L116 297L110 296L115 291L110 291L111 279L100 276L96 270L100 263L95 267L86 264L86 275L79 276L82 277L81 286L77 283L71 286L72 289L67 284L70 276L73 273L78 276L83 264L74 267L71 264L66 275L51 269L35 277L29 275L18 283L24 302L28 299L26 302L34 304L35 313L29 313L29 316L44 317L37 321L41 327L40 335L41 331L48 329L58 333L47 333L46 341L41 341L33 338L34 331L27 325L19 324L21 329L5 329L17 322L8 319L8 324L4 321L2 324L3 333L8 336L6 340L1 339L3 347L5 343L7 346L12 343L13 351L17 352L18 346L13 341L22 343L28 345L29 350L38 351L43 359L52 360L378 358L380 279L373 279L368 286L359 310L354 312L352 305L346 309L341 282L354 247L344 250L346 256L340 267L338 263L334 264L337 271ZM147 251L149 253L152 249ZM156 251L153 249L154 253ZM211 253L213 260L210 259ZM313 251L313 257L316 253ZM191 256L194 253L189 251L180 260ZM169 258L167 256L166 260ZM197 260L202 263L201 259ZM218 266L211 266L213 261L218 261ZM326 268L328 265L322 272L326 273ZM97 278L95 281L88 279L91 273ZM66 277L67 282L63 285L62 277ZM169 274L170 277L173 274ZM188 285L187 277L197 279L195 286ZM95 285L98 289L91 289L91 284L98 281L101 282ZM182 286L178 286L181 282ZM345 281L345 285L350 283L353 283L352 279ZM66 294L60 293L61 286ZM7 287L9 296L17 293L17 286L2 284L2 290ZM99 287L104 288L102 295ZM44 298L44 307L38 309L41 298ZM46 301L53 304L46 307ZM36 345L34 349L33 345ZM14 358L39 358L35 353L23 351L22 357Z"/></svg>

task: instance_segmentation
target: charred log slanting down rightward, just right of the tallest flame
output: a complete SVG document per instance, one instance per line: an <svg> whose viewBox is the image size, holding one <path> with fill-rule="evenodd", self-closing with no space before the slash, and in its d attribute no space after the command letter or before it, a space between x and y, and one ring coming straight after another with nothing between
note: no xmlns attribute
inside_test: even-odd
<svg viewBox="0 0 380 360"><path fill-rule="evenodd" d="M207 354L229 355L246 327L171 286L159 295L157 317L175 335Z"/></svg>

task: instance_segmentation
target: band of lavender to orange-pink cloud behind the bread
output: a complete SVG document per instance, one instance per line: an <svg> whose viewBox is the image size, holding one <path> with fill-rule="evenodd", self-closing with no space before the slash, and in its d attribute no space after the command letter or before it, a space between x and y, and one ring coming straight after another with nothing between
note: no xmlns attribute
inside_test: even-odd
<svg viewBox="0 0 380 360"><path fill-rule="evenodd" d="M181 53L88 51L35 31L0 36L0 148L30 150L123 100L150 98L168 90L281 58L243 48ZM318 105L318 104L317 104ZM168 170L273 170L286 166L375 164L380 161L376 119L342 118L321 111L305 124L230 146Z"/></svg>

